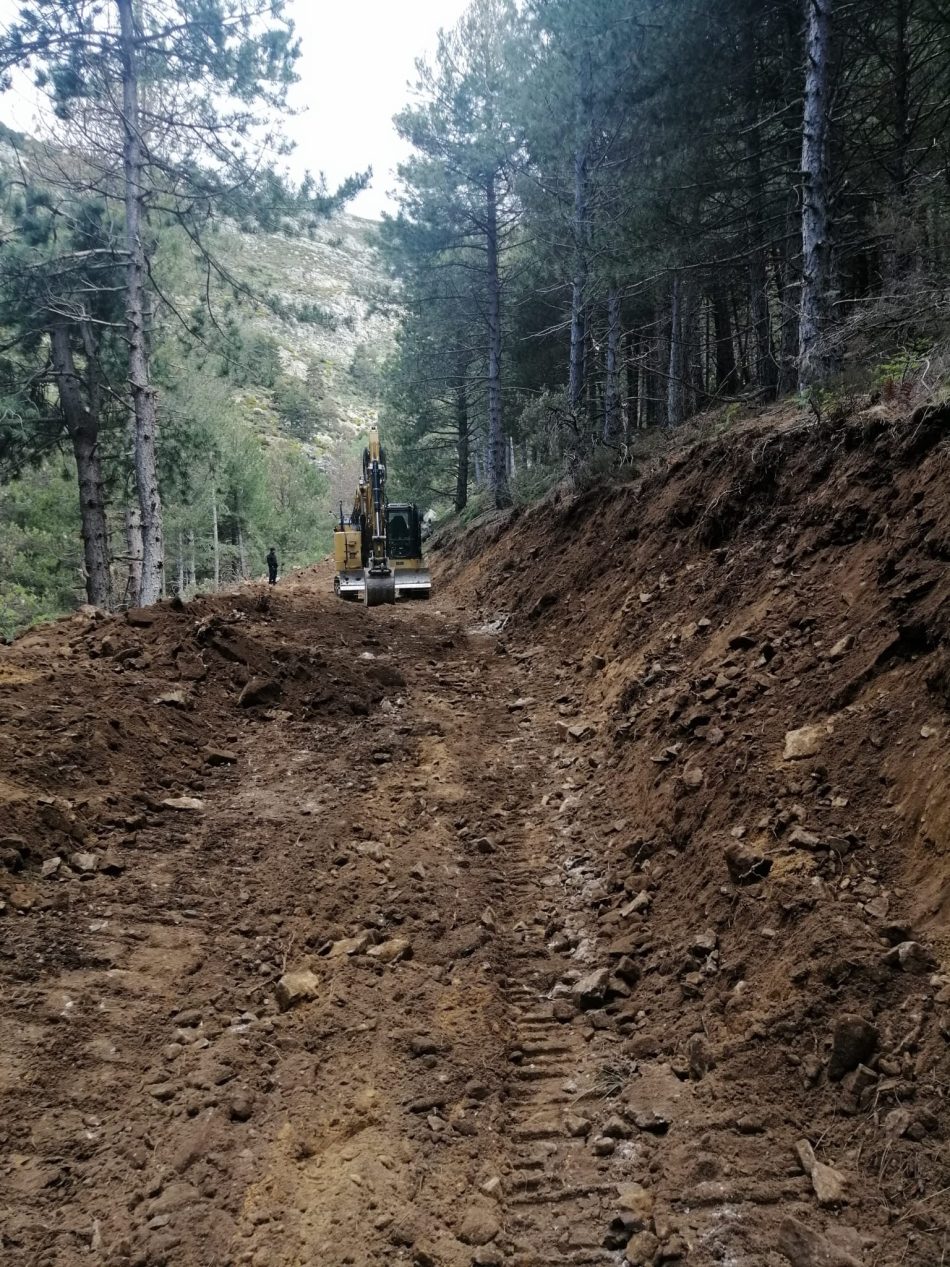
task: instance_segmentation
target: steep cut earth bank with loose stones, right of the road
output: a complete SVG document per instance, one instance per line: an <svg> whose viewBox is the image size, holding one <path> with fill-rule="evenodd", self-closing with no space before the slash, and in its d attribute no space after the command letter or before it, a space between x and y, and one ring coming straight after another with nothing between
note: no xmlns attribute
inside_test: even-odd
<svg viewBox="0 0 950 1267"><path fill-rule="evenodd" d="M445 549L443 584L550 683L564 803L590 793L569 817L598 962L636 979L599 1015L718 1106L664 1183L818 1190L793 1136L821 1142L818 1205L854 1237L833 1257L785 1228L795 1263L947 1244L949 437L946 408L765 418ZM727 1119L759 1140L741 1158ZM736 1235L711 1261L764 1261Z"/></svg>

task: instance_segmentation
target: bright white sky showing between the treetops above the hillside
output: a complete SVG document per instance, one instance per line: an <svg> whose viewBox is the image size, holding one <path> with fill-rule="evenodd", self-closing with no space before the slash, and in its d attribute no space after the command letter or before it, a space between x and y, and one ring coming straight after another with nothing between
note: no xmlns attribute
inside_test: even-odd
<svg viewBox="0 0 950 1267"><path fill-rule="evenodd" d="M301 43L300 82L293 104L305 113L289 119L296 142L290 160L295 176L324 171L336 188L346 176L372 167L371 189L350 210L377 218L404 147L393 115L405 104L415 79L415 58L432 52L440 27L452 27L467 0L289 0ZM0 0L0 24L19 5ZM33 131L35 98L16 87L0 96L0 119Z"/></svg>

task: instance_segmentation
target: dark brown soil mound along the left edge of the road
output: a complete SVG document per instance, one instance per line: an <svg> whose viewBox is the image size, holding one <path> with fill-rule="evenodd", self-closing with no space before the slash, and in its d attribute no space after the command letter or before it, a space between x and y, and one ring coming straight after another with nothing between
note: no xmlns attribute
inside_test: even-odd
<svg viewBox="0 0 950 1267"><path fill-rule="evenodd" d="M256 721L367 715L386 687L360 661L376 640L338 614L331 630L305 601L248 589L84 608L5 649L0 902L29 906L52 859L109 865L146 816L186 820Z"/></svg>

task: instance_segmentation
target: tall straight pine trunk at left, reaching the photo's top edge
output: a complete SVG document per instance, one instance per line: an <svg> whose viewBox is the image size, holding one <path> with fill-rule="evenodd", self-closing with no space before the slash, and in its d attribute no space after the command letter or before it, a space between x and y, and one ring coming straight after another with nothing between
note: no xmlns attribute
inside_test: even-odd
<svg viewBox="0 0 950 1267"><path fill-rule="evenodd" d="M123 174L125 181L125 319L129 340L129 389L134 414L134 465L138 504L142 513L143 606L157 602L162 592L165 544L162 540L162 499L158 492L157 416L155 389L148 369L146 331L146 250L142 238L146 161L138 108L138 66L133 0L117 0L122 35L122 125Z"/></svg>

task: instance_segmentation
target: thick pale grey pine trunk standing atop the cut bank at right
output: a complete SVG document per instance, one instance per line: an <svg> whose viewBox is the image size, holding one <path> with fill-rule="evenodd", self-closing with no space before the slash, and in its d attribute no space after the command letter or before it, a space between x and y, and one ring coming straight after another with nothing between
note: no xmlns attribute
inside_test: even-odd
<svg viewBox="0 0 950 1267"><path fill-rule="evenodd" d="M828 241L831 5L832 0L806 0L799 389L823 381L831 369L826 342L831 286L831 243Z"/></svg>

